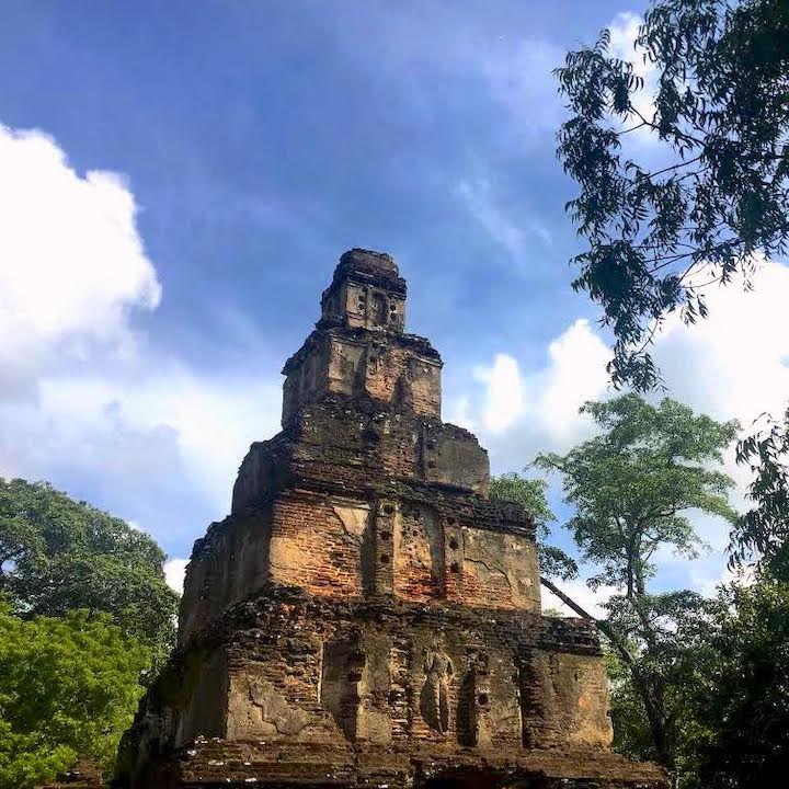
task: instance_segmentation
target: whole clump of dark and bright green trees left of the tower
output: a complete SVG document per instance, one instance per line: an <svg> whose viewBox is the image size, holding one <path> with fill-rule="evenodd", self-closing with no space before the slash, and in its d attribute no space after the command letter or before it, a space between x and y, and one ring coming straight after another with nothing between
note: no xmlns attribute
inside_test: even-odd
<svg viewBox="0 0 789 789"><path fill-rule="evenodd" d="M178 596L145 533L46 482L0 479L0 789L111 769L167 655Z"/></svg>

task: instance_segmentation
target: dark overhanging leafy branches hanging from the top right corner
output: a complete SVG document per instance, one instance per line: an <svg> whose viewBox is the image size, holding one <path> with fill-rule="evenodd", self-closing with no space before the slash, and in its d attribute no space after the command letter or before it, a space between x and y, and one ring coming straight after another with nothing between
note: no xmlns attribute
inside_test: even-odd
<svg viewBox="0 0 789 789"><path fill-rule="evenodd" d="M787 250L789 4L659 0L632 58L656 88L609 47L604 31L556 72L571 113L558 156L581 187L567 207L588 243L573 287L614 330L614 382L647 389L648 345L668 313L704 318L712 284ZM658 150L627 156L633 134Z"/></svg>

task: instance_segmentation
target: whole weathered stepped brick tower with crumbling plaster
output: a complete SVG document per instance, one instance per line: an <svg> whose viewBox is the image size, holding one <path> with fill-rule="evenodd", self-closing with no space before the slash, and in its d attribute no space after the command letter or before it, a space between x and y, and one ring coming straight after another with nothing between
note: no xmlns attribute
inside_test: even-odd
<svg viewBox="0 0 789 789"><path fill-rule="evenodd" d="M662 787L608 750L596 632L540 615L533 524L441 421L391 258L346 252L321 310L195 544L118 786Z"/></svg>

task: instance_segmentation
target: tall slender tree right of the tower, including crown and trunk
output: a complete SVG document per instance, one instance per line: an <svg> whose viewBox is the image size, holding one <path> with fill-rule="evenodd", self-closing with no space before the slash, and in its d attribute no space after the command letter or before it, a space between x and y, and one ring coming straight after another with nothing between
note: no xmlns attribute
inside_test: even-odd
<svg viewBox="0 0 789 789"><path fill-rule="evenodd" d="M674 771L683 622L698 622L705 605L689 592L651 594L648 582L656 551L697 554L701 542L688 511L736 519L728 501L733 481L711 467L722 461L737 425L696 415L667 398L651 405L638 395L588 402L582 412L603 432L564 456L540 455L535 464L562 477L564 499L575 511L567 526L583 559L599 568L591 585L621 591L610 598L608 616L598 625L630 672L654 757ZM546 585L592 618L560 590Z"/></svg>

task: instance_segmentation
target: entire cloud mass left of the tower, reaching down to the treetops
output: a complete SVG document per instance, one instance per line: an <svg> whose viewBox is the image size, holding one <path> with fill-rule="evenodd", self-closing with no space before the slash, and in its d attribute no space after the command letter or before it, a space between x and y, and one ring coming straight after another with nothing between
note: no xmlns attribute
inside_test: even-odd
<svg viewBox="0 0 789 789"><path fill-rule="evenodd" d="M0 126L0 474L47 479L182 552L276 431L279 385L138 342L161 286L117 173Z"/></svg>

